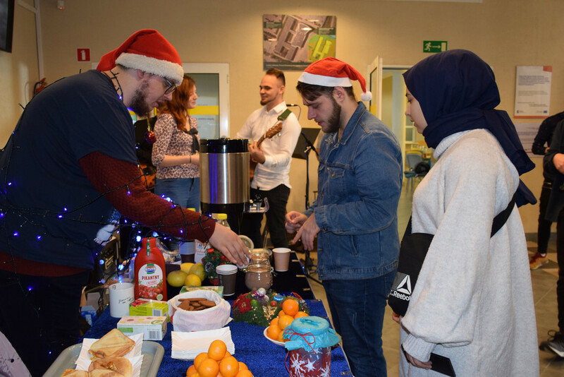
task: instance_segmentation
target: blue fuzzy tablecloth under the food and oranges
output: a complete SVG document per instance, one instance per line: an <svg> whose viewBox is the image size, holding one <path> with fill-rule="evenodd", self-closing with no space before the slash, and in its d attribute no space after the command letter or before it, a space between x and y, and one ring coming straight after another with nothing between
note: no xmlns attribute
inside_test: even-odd
<svg viewBox="0 0 564 377"><path fill-rule="evenodd" d="M329 321L323 303L320 300L306 300L306 302L307 306L309 306L310 315L326 318ZM106 309L97 321L94 322L94 325L88 330L85 337L102 337L112 328L116 328L117 323L118 318L111 317L109 309ZM231 321L228 326L231 328L231 337L235 343L235 354L233 356L238 361L243 361L247 364L255 377L288 376L286 366L284 366L286 348L267 340L263 335L263 327L235 321ZM172 329L173 325L168 323L166 335L163 340L159 341L164 347L164 358L157 375L159 377L185 376L188 366L192 365L192 361L171 358ZM331 376L352 376L341 347L336 347L331 352Z"/></svg>

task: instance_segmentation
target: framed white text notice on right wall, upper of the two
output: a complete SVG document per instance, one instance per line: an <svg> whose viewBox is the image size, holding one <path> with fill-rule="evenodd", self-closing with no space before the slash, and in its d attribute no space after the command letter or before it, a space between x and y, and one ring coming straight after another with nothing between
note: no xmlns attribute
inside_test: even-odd
<svg viewBox="0 0 564 377"><path fill-rule="evenodd" d="M515 118L546 118L550 114L552 66L517 66Z"/></svg>

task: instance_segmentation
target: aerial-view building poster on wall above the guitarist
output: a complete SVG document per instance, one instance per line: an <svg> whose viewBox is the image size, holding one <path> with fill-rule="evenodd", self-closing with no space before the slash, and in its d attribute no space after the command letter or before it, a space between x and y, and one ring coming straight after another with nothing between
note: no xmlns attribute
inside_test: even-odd
<svg viewBox="0 0 564 377"><path fill-rule="evenodd" d="M336 16L262 16L264 69L302 70L335 57Z"/></svg>

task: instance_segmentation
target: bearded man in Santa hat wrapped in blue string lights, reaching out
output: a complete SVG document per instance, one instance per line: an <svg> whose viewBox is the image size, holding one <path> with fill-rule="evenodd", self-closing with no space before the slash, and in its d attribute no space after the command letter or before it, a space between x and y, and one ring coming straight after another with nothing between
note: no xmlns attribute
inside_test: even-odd
<svg viewBox="0 0 564 377"><path fill-rule="evenodd" d="M147 114L183 80L176 49L140 30L97 70L63 78L27 104L0 156L0 331L33 376L78 342L97 253L120 214L231 262L249 254L230 229L146 190L128 108Z"/></svg>

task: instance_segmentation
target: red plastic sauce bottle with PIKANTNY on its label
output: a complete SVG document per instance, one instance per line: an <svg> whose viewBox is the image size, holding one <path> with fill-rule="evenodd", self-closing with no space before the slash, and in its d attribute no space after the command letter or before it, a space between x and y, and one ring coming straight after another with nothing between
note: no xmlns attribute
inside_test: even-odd
<svg viewBox="0 0 564 377"><path fill-rule="evenodd" d="M166 301L166 268L157 239L144 238L135 257L135 299Z"/></svg>

